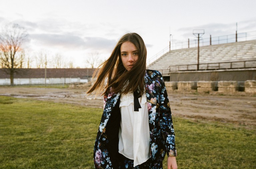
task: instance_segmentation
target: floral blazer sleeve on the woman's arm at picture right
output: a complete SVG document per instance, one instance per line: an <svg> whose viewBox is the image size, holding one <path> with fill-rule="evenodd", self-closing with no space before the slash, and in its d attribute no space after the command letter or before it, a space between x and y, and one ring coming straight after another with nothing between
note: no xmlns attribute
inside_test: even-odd
<svg viewBox="0 0 256 169"><path fill-rule="evenodd" d="M177 156L175 148L175 133L172 123L172 113L170 109L169 99L164 84L163 77L160 73L160 96L159 96L159 117L160 127L164 137L165 146L168 156Z"/></svg>

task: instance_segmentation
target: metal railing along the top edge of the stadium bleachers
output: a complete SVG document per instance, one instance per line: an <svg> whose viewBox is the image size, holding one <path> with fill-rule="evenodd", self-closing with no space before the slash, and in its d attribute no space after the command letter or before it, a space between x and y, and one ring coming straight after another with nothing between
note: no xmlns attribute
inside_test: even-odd
<svg viewBox="0 0 256 169"><path fill-rule="evenodd" d="M256 40L256 31L239 33L239 34L237 34L237 39L236 39L236 34L200 39L199 46L232 43L232 42L236 42L236 40L237 40L237 42ZM197 47L197 45L198 45L197 39L188 40L185 42L171 43L171 47L168 45L165 48L163 48L161 51L159 51L158 53L156 53L155 55L153 55L152 57L147 59L147 65L154 62L155 60L157 60L158 58L160 58L162 55L166 54L167 52L169 52L170 48L171 48L171 50L176 50L176 49Z"/></svg>

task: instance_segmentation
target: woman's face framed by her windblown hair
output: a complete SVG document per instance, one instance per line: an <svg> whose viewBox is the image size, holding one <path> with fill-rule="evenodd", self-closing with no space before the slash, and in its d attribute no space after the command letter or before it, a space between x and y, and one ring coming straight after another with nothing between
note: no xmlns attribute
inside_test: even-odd
<svg viewBox="0 0 256 169"><path fill-rule="evenodd" d="M123 42L120 47L121 59L126 70L131 70L138 60L138 49L132 42Z"/></svg>

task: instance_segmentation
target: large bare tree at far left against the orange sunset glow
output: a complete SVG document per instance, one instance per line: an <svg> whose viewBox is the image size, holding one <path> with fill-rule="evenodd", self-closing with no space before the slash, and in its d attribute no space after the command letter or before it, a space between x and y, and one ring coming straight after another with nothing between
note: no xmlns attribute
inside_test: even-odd
<svg viewBox="0 0 256 169"><path fill-rule="evenodd" d="M24 61L21 45L26 39L26 30L18 24L7 25L0 33L0 64L10 74L11 85L14 73L22 67Z"/></svg>

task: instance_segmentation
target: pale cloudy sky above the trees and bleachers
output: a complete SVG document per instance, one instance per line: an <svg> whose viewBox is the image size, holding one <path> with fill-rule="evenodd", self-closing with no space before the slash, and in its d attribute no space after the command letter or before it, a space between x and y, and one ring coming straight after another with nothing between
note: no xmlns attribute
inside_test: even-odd
<svg viewBox="0 0 256 169"><path fill-rule="evenodd" d="M60 55L74 67L86 60L108 58L117 41L138 33L147 47L147 59L171 43L253 32L256 37L255 0L1 0L0 26L19 24L28 33L25 55ZM168 48L168 47L167 47Z"/></svg>

